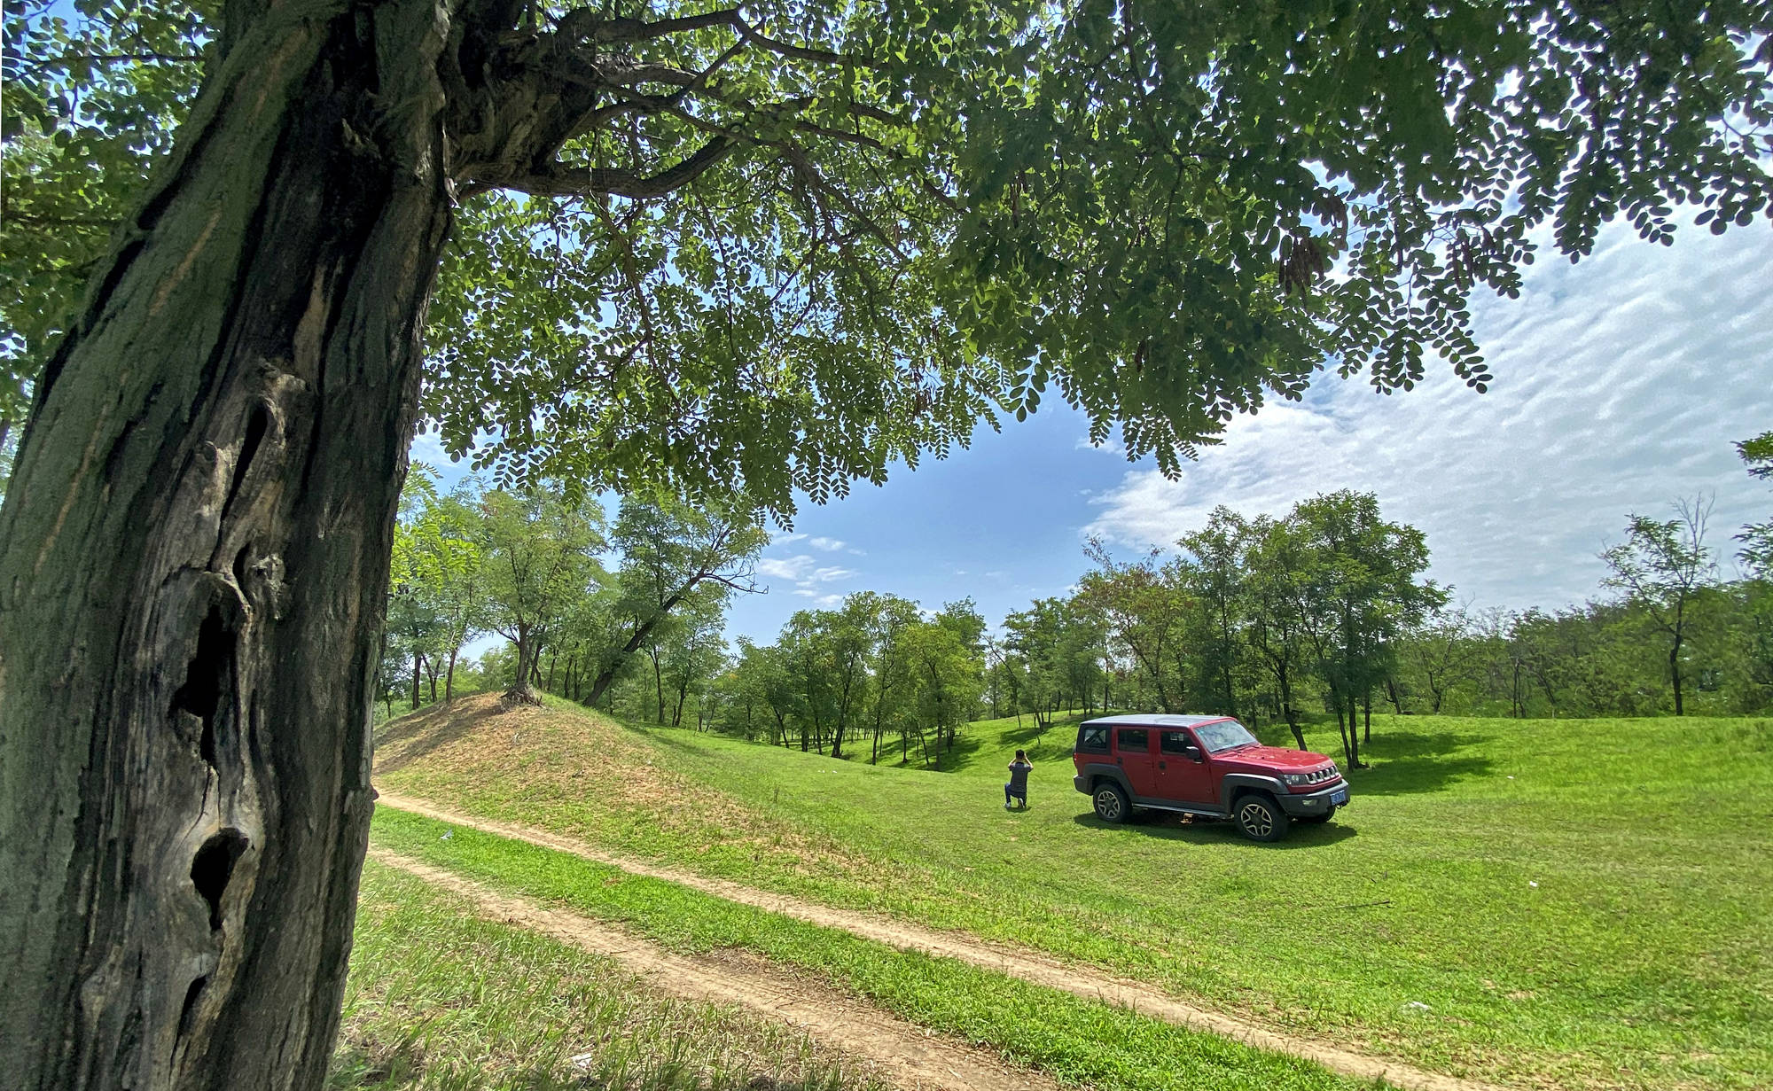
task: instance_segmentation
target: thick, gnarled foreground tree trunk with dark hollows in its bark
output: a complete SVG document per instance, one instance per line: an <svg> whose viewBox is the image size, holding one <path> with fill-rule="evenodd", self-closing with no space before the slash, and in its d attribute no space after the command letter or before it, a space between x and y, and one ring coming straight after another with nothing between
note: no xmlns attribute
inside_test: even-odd
<svg viewBox="0 0 1773 1091"><path fill-rule="evenodd" d="M411 0L230 14L0 512L9 1087L307 1089L333 1047L441 43Z"/></svg>

